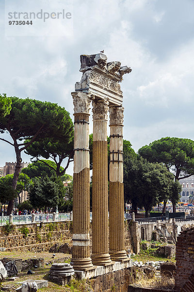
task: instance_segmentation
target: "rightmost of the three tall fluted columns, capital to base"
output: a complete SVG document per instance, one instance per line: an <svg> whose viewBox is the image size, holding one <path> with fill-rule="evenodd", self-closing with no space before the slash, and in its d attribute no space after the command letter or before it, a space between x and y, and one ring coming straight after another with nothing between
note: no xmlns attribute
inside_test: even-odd
<svg viewBox="0 0 194 292"><path fill-rule="evenodd" d="M109 244L112 260L128 259L124 236L123 107L110 107Z"/></svg>

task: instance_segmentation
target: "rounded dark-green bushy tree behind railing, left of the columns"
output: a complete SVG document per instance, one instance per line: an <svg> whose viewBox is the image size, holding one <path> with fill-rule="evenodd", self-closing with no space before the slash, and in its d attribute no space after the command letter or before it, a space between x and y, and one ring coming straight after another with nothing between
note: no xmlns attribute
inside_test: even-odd
<svg viewBox="0 0 194 292"><path fill-rule="evenodd" d="M29 191L30 201L34 208L45 208L61 205L65 197L65 188L60 178L45 177L36 179Z"/></svg>

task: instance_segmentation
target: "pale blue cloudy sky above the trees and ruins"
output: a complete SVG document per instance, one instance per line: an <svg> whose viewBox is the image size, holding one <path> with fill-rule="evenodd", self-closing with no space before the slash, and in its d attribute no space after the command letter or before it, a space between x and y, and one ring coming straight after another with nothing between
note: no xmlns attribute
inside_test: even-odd
<svg viewBox="0 0 194 292"><path fill-rule="evenodd" d="M10 11L63 7L71 19L8 25ZM194 0L0 0L0 93L56 102L73 118L80 55L103 49L132 69L121 88L124 139L135 151L165 136L194 138ZM14 149L0 142L0 166L8 161Z"/></svg>

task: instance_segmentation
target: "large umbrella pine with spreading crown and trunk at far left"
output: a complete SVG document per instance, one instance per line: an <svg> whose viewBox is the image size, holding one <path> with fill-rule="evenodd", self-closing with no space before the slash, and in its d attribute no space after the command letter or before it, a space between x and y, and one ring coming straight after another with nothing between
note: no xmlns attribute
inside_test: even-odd
<svg viewBox="0 0 194 292"><path fill-rule="evenodd" d="M16 189L22 162L21 152L27 150L35 141L41 142L44 139L49 139L52 144L60 137L61 141L65 139L69 144L73 140L74 129L69 112L57 104L15 96L4 95L4 98L7 104L10 101L11 110L9 114L0 115L0 133L9 133L13 141L0 139L14 146L16 152L16 168L12 182L12 187ZM22 143L23 140L28 142ZM9 202L8 215L11 214L12 208L13 200Z"/></svg>

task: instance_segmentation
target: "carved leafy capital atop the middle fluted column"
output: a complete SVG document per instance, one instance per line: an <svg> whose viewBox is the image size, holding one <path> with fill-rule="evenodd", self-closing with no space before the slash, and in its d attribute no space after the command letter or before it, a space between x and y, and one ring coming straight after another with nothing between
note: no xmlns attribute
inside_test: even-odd
<svg viewBox="0 0 194 292"><path fill-rule="evenodd" d="M109 102L106 99L103 100L93 100L92 102L92 112L93 120L107 120L108 119L108 110Z"/></svg>

